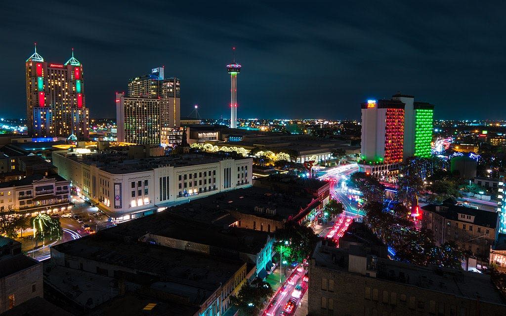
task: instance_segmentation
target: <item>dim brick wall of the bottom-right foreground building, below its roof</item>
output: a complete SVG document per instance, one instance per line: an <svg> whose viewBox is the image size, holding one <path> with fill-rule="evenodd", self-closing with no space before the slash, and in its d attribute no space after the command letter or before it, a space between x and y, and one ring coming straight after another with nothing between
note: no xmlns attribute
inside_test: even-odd
<svg viewBox="0 0 506 316"><path fill-rule="evenodd" d="M505 312L505 305L315 266L314 260L309 267L309 316L502 316Z"/></svg>

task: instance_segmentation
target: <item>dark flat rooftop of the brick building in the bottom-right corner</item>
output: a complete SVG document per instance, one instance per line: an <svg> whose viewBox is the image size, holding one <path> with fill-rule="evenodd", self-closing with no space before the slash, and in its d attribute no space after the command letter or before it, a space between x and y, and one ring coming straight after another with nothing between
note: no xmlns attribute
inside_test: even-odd
<svg viewBox="0 0 506 316"><path fill-rule="evenodd" d="M317 266L348 272L348 256L348 250L319 244L312 258ZM502 296L488 275L435 266L419 266L386 258L377 258L377 261L376 279L468 299L504 304Z"/></svg>

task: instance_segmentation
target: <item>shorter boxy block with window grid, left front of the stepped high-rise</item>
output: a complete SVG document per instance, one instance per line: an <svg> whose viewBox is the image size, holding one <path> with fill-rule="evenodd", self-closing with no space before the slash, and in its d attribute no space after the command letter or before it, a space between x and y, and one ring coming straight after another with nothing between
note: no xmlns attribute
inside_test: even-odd
<svg viewBox="0 0 506 316"><path fill-rule="evenodd" d="M118 142L159 145L160 100L116 94L116 125Z"/></svg>

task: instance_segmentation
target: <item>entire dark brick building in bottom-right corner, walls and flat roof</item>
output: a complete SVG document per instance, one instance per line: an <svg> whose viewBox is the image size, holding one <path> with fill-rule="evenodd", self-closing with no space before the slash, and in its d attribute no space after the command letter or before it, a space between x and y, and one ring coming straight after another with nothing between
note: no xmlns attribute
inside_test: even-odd
<svg viewBox="0 0 506 316"><path fill-rule="evenodd" d="M308 315L490 315L506 312L487 275L423 267L364 247L317 245L309 265Z"/></svg>

